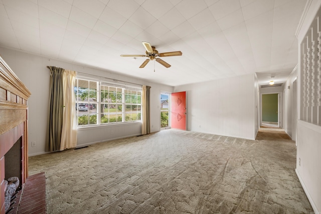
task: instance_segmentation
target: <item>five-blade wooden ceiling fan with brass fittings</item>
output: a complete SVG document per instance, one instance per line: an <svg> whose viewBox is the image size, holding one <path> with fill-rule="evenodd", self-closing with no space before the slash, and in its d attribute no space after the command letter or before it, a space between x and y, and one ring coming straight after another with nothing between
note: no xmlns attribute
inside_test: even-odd
<svg viewBox="0 0 321 214"><path fill-rule="evenodd" d="M181 51L173 51L173 52L166 52L166 53L158 53L158 51L155 49L154 46L151 46L150 43L148 42L142 42L142 45L145 47L146 49L146 54L145 55L120 55L121 57L148 57L149 59L145 60L140 66L139 68L143 68L147 65L147 63L150 60L155 60L156 62L158 62L159 64L165 66L166 68L171 67L170 64L168 64L167 62L165 62L164 60L160 59L160 58L156 58L156 57L172 57L172 56L182 56L182 52Z"/></svg>

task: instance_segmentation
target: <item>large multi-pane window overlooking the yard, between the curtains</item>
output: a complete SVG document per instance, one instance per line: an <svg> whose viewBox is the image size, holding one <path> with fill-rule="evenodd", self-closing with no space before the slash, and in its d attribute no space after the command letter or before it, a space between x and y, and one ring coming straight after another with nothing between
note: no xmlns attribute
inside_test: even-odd
<svg viewBox="0 0 321 214"><path fill-rule="evenodd" d="M75 97L78 126L141 120L141 88L77 78Z"/></svg>

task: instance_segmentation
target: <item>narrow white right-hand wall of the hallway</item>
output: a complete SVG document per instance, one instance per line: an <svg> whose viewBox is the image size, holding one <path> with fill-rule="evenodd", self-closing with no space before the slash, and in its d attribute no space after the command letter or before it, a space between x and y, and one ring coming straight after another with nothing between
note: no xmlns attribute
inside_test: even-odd
<svg viewBox="0 0 321 214"><path fill-rule="evenodd" d="M296 91L293 91L293 82L297 77L297 67L292 71L290 76L287 78L286 82L283 84L283 129L291 137L292 140L296 140L295 130L297 116L294 114L293 106L293 95L297 95ZM295 115L295 116L294 116Z"/></svg>

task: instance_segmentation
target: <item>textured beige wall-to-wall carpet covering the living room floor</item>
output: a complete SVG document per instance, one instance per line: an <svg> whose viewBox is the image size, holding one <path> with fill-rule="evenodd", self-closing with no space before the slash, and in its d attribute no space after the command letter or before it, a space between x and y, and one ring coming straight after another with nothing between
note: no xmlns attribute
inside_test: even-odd
<svg viewBox="0 0 321 214"><path fill-rule="evenodd" d="M295 142L167 129L29 158L46 172L47 213L313 213Z"/></svg>

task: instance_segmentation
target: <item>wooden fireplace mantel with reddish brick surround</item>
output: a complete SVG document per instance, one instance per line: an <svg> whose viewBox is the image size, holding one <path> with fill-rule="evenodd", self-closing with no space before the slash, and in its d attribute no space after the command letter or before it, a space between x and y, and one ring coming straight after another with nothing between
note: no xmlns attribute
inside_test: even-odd
<svg viewBox="0 0 321 214"><path fill-rule="evenodd" d="M22 184L28 177L28 105L31 93L0 56L0 213L5 213L5 154L22 137Z"/></svg>

